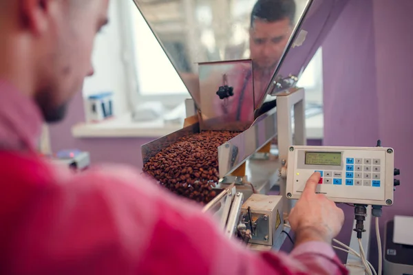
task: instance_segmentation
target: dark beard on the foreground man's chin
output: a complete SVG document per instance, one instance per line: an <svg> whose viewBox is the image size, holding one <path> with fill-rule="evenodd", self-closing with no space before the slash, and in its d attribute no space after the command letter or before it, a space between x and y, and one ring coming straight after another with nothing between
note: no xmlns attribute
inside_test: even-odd
<svg viewBox="0 0 413 275"><path fill-rule="evenodd" d="M34 100L43 114L43 119L47 123L59 122L65 118L67 103L63 103L60 106L52 106L52 99L47 96L50 93L40 93Z"/></svg>

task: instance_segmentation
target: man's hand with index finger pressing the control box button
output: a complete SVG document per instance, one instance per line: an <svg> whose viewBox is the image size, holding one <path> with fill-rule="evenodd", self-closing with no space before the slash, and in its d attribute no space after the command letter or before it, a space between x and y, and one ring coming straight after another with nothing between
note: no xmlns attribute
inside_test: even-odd
<svg viewBox="0 0 413 275"><path fill-rule="evenodd" d="M296 245L306 241L331 243L339 234L344 222L343 210L322 194L316 194L320 173L314 173L288 217L295 232Z"/></svg>

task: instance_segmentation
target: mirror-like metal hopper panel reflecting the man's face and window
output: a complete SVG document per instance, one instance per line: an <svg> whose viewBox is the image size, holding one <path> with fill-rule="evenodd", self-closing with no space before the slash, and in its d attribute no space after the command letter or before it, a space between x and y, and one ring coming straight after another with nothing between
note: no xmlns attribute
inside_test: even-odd
<svg viewBox="0 0 413 275"><path fill-rule="evenodd" d="M252 104L257 109L265 98L268 83L286 52L286 46L293 41L294 32L299 30L299 23L312 1L134 2L189 89L195 104L203 111L196 64L251 58L253 79L250 82L255 90L255 103ZM308 30L308 36L311 35L317 36L317 33Z"/></svg>

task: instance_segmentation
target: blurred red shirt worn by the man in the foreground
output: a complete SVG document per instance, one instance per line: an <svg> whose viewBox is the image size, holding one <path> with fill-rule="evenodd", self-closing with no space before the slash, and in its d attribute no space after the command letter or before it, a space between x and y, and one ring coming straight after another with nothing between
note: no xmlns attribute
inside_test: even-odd
<svg viewBox="0 0 413 275"><path fill-rule="evenodd" d="M34 153L40 129L0 82L0 274L348 274L326 243L250 251L131 168L54 166Z"/></svg>

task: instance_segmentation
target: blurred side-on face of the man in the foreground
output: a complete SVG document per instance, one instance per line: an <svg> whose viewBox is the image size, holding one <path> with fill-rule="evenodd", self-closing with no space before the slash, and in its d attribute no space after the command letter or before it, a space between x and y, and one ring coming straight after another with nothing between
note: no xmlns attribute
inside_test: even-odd
<svg viewBox="0 0 413 275"><path fill-rule="evenodd" d="M54 3L52 3L54 2ZM49 28L36 41L40 50L39 89L34 99L47 122L61 120L67 102L93 74L94 37L107 22L109 0L52 1Z"/></svg>

